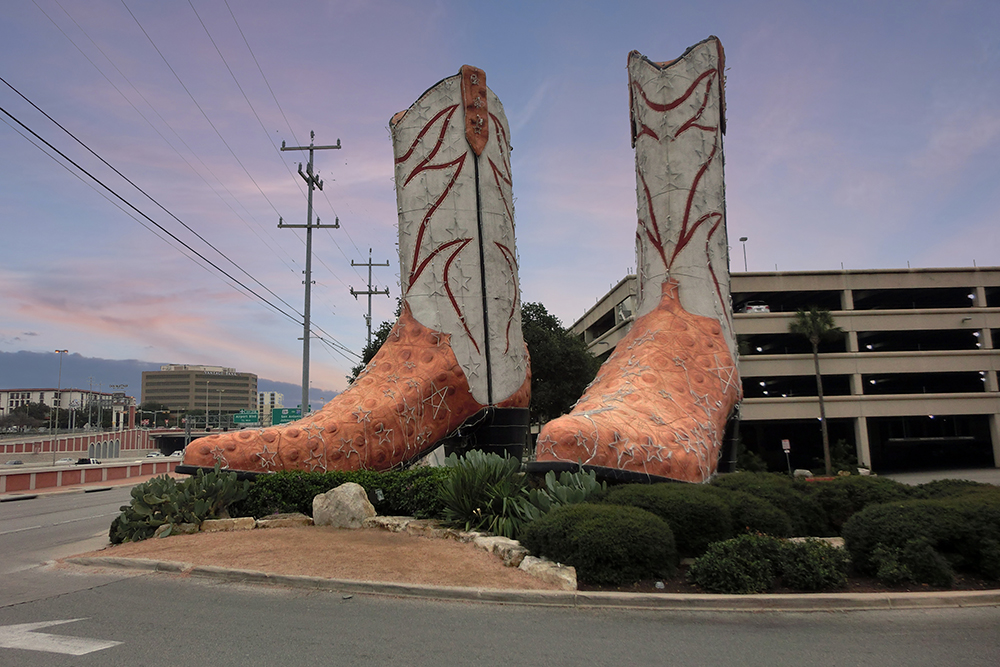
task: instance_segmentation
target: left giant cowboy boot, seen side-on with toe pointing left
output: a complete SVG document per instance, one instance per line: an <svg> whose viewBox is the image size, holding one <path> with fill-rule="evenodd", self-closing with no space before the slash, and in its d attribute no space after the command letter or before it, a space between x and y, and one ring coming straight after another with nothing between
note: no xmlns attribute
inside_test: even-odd
<svg viewBox="0 0 1000 667"><path fill-rule="evenodd" d="M403 307L385 344L318 412L195 440L185 465L385 470L470 424L527 424L531 380L503 106L483 71L465 66L390 125Z"/></svg>

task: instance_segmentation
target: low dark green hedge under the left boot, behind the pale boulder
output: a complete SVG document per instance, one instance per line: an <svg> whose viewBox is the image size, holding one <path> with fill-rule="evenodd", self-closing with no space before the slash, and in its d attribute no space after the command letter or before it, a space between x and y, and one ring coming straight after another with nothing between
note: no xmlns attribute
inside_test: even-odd
<svg viewBox="0 0 1000 667"><path fill-rule="evenodd" d="M368 498L379 514L436 518L444 510L440 498L441 485L450 475L451 471L447 468L427 467L388 472L282 471L259 475L246 500L230 512L234 516L257 518L284 512L312 516L314 497L341 484L354 482L368 492Z"/></svg>

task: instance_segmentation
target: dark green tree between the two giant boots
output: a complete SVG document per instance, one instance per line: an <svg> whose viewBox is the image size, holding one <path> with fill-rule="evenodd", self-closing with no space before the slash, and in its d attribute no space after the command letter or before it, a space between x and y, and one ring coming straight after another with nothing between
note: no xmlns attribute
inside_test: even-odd
<svg viewBox="0 0 1000 667"><path fill-rule="evenodd" d="M531 420L543 423L570 411L601 362L540 303L521 306L521 330L531 355Z"/></svg>

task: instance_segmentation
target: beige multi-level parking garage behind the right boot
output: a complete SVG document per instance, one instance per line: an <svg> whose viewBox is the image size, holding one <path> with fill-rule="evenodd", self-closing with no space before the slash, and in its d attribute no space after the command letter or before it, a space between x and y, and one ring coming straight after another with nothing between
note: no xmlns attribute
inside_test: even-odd
<svg viewBox="0 0 1000 667"><path fill-rule="evenodd" d="M627 276L570 330L607 357L635 293ZM1000 268L733 273L731 293L741 435L772 468L785 465L782 440L793 466L821 452L812 347L788 332L812 306L845 332L820 346L832 444L876 471L1000 467Z"/></svg>

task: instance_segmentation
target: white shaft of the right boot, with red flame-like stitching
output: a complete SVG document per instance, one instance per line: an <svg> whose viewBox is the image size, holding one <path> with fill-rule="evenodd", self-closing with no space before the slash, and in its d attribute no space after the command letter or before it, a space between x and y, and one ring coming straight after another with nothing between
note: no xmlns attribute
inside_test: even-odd
<svg viewBox="0 0 1000 667"><path fill-rule="evenodd" d="M723 183L724 70L715 37L669 63L637 51L628 59L638 314L657 306L663 282L672 278L684 309L717 319L736 358Z"/></svg>

